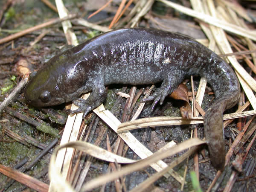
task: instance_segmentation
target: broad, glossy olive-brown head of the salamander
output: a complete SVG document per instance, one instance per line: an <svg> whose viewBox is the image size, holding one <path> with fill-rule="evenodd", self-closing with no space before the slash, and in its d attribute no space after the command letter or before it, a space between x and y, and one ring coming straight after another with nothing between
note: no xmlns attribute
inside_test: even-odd
<svg viewBox="0 0 256 192"><path fill-rule="evenodd" d="M24 89L28 103L36 107L60 105L78 98L86 89L82 60L73 57L72 49L55 55L29 76Z"/></svg>

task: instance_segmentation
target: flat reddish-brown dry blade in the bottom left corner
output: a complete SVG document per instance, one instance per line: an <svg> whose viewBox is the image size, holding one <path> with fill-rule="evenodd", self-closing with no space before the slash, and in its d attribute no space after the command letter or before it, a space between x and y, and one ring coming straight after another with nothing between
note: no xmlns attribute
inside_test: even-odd
<svg viewBox="0 0 256 192"><path fill-rule="evenodd" d="M42 181L37 180L34 177L21 173L11 167L5 167L0 164L0 173L14 180L17 180L18 182L30 187L31 189L34 189L35 191L48 191L49 186L46 183L43 183Z"/></svg>

